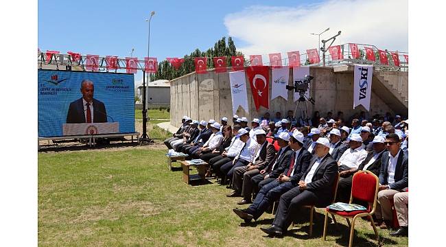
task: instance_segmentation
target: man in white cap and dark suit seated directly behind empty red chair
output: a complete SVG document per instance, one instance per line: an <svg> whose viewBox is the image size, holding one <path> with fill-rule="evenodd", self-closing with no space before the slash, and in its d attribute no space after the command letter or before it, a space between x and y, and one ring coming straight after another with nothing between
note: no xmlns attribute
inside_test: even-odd
<svg viewBox="0 0 446 247"><path fill-rule="evenodd" d="M379 171L381 170L381 158L384 151L386 151L386 145L384 145L384 138L380 136L376 136L373 139L373 152L369 153L362 161L359 167L356 169L349 169L340 172L340 175L343 177L339 180L338 183L338 202L346 202L348 203L350 200L351 194L351 180L353 179L353 175L357 171L370 171L373 172L376 176L379 176Z"/></svg>

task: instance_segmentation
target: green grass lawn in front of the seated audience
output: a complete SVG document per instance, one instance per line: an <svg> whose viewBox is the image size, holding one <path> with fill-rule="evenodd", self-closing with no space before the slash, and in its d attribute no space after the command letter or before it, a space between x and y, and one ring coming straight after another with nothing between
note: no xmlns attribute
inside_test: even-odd
<svg viewBox="0 0 446 247"><path fill-rule="evenodd" d="M316 214L314 237L306 223L293 236L265 237L274 215L241 226L232 209L239 198L215 183L191 186L171 172L155 146L38 154L38 244L40 246L347 246L348 228L329 227ZM244 208L244 206L242 206ZM318 212L321 212L318 210ZM305 213L307 215L307 213ZM368 222L357 224L355 246L377 246ZM379 231L382 244L407 246L408 238ZM246 244L243 244L246 243Z"/></svg>

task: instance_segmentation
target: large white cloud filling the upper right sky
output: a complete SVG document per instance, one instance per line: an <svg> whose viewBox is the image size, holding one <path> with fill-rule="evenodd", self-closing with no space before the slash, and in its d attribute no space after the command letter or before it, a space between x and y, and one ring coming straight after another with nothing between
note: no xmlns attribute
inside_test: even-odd
<svg viewBox="0 0 446 247"><path fill-rule="evenodd" d="M408 1L340 0L296 7L255 5L227 14L224 25L228 35L246 46L237 49L246 56L317 48L318 36L327 39L338 31L342 34L333 45L360 43L390 51L408 51ZM327 43L329 45L329 43Z"/></svg>

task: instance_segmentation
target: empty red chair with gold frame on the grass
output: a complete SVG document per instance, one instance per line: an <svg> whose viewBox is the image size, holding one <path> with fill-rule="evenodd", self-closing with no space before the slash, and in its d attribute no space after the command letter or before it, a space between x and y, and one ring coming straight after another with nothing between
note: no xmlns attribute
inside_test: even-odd
<svg viewBox="0 0 446 247"><path fill-rule="evenodd" d="M375 231L376 239L377 241L379 241L379 234L372 217L373 213L375 213L377 204L378 186L379 186L378 177L372 172L360 171L355 173L355 175L353 175L353 180L351 184L351 196L349 203L353 202L353 200L360 200L363 202L367 202L368 209L358 210L358 211L334 211L327 207L325 209L324 234L322 238L325 240L325 236L327 233L327 217L328 214L331 214L333 220L335 219L335 215L344 217L347 220L347 224L349 224L350 227L349 247L351 247L351 245L353 244L353 233L355 233L355 220L364 216L367 216L372 222L373 231ZM353 219L351 224L349 219Z"/></svg>

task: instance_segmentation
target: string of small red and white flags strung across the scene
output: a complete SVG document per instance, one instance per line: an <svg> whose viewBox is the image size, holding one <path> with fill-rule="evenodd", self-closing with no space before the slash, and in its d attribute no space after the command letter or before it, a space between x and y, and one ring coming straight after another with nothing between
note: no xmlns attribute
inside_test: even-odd
<svg viewBox="0 0 446 247"><path fill-rule="evenodd" d="M343 47L343 46L342 46ZM342 52L341 45L335 45L329 47L329 55L331 56L332 60L343 60L344 54ZM349 43L349 49L351 58L353 59L359 59L360 58L360 49L358 49L357 44ZM366 47L364 46L365 50L365 58L368 61L375 62L375 52L373 51L373 47ZM40 49L38 49L40 52ZM379 62L381 64L389 65L388 61L388 51L377 49L379 53ZM56 55L60 54L60 51L52 51L47 50L45 53L46 59L45 62L51 61L51 58ZM73 62L80 62L82 60L82 56L80 53L75 53L73 51L68 51L67 54L71 56L71 60ZM309 64L318 64L320 62L320 55L318 52L318 49L307 49L306 55L309 60ZM400 60L399 60L399 54L397 51L391 51L390 55L392 56L392 61L395 66L400 66ZM408 55L403 55L404 59L406 60L406 63L409 63ZM274 69L278 69L283 67L282 64L282 56L280 53L274 53L274 54L268 54L270 67ZM287 67L301 67L301 54L299 51L288 51L287 52L287 59L288 64L285 65ZM105 62L106 62L106 68L113 70L113 69L120 69L118 66L118 60L119 58L117 56L106 56ZM174 69L178 70L180 69L183 62L185 62L185 58L166 58L166 60L174 67ZM193 62L195 65L196 73L207 73L207 64L208 64L208 58L193 58ZM220 57L213 57L212 59L215 72L216 73L222 73L227 71L228 64L226 64L226 57L220 56ZM138 58L130 58L126 57L126 71L127 73L137 73L139 68L142 68L147 73L156 73L158 70L158 60L157 58L144 58L144 66L142 67L140 64L140 61ZM240 71L244 69L244 56L231 56L231 71ZM262 66L262 56L261 55L250 55L249 56L249 63L250 66ZM86 62L85 62L86 70L88 71L97 71L99 69L99 55L86 55Z"/></svg>

